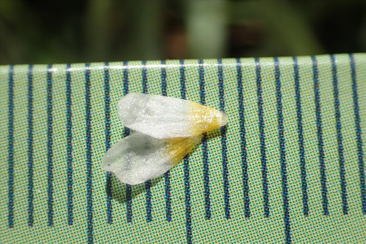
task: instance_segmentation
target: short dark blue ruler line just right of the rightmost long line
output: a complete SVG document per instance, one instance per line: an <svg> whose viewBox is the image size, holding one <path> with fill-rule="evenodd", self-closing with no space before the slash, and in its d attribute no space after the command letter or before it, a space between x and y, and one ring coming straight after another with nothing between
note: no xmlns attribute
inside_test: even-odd
<svg viewBox="0 0 366 244"><path fill-rule="evenodd" d="M302 115L301 115L299 65L298 65L297 57L292 57L292 60L294 60L296 114L297 114L297 123L298 123L299 150L300 150L302 207L303 207L304 215L308 216L309 215L309 204L307 202L308 195L307 195L307 181L306 181L306 162L305 162L304 136L303 136L303 128L302 128Z"/></svg>

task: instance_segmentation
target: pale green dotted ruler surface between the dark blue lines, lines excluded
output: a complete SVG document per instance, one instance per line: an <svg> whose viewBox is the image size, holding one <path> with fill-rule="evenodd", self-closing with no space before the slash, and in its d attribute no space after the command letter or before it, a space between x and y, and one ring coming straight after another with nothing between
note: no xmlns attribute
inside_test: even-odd
<svg viewBox="0 0 366 244"><path fill-rule="evenodd" d="M354 54L362 150L365 154L366 55ZM309 216L303 214L292 57L280 57L282 112L292 243L365 243L350 56L335 55L348 214L342 211L332 64L316 56L329 215L323 214L311 57L298 57ZM186 96L199 102L198 60L185 60ZM219 108L217 60L203 60L206 105ZM285 243L284 208L273 58L260 58L268 170L269 218L264 215L255 60L241 59L250 218L244 216L237 64L223 59L225 110L229 116L227 156L230 219L225 218L220 131L208 133L210 220L205 219L202 146L189 158L193 243ZM161 94L161 62L147 61L147 87ZM179 60L167 60L167 95L181 96ZM14 226L8 226L9 65L1 66L1 243L86 243L85 64L71 64L73 216L67 222L66 65L52 65L53 226L47 204L47 65L33 66L33 227L28 226L28 65L14 66ZM109 63L111 144L123 138L117 102L123 96L123 62ZM145 185L132 187L132 223L127 222L126 186L112 177L112 217L107 222L104 63L90 64L93 243L187 243L183 163L171 170L172 221L165 218L163 176L152 180L152 221L146 221ZM141 61L128 62L130 92L142 92ZM365 157L363 157L365 161Z"/></svg>

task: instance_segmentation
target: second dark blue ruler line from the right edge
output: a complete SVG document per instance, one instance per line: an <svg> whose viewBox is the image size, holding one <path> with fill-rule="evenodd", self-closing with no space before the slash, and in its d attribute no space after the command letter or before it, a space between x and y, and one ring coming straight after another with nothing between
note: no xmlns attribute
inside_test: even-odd
<svg viewBox="0 0 366 244"><path fill-rule="evenodd" d="M347 214L347 190L346 190L346 172L344 170L344 157L343 157L343 144L341 133L341 113L339 111L339 98L338 98L338 78L336 59L334 55L330 55L332 62L332 76L333 76L333 94L334 94L334 106L336 110L336 129L337 129L337 143L338 143L338 159L339 159L339 174L341 181L341 198L342 198L342 210L343 214Z"/></svg>

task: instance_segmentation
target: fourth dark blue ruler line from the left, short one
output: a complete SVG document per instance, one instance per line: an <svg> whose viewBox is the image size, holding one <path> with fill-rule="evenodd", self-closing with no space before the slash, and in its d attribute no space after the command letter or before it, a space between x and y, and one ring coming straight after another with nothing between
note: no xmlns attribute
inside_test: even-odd
<svg viewBox="0 0 366 244"><path fill-rule="evenodd" d="M66 128L67 128L67 224L74 222L72 192L72 112L71 112L71 64L66 65Z"/></svg>

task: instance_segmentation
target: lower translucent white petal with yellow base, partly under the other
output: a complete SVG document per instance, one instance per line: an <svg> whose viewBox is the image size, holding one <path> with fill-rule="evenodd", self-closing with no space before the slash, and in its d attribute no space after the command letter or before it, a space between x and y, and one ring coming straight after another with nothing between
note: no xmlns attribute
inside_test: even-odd
<svg viewBox="0 0 366 244"><path fill-rule="evenodd" d="M113 145L102 158L102 169L123 183L136 185L164 174L178 164L202 139L157 139L135 132Z"/></svg>

